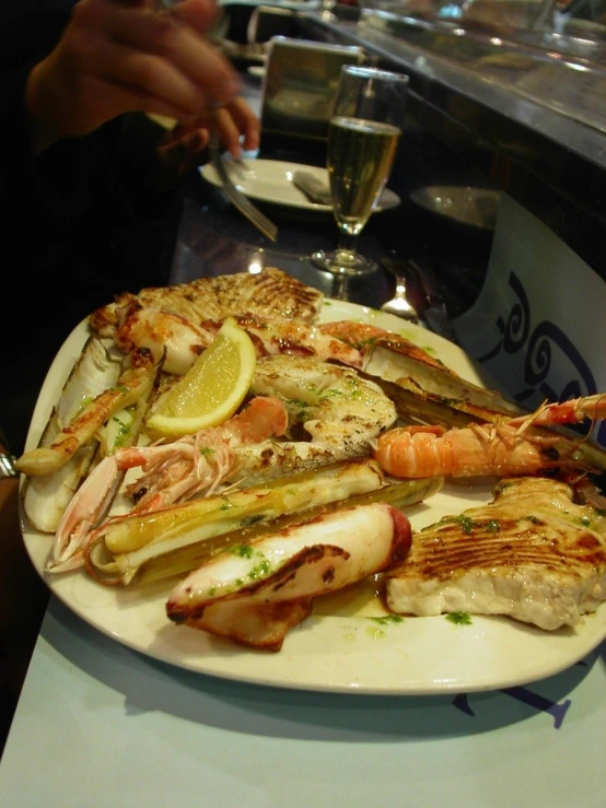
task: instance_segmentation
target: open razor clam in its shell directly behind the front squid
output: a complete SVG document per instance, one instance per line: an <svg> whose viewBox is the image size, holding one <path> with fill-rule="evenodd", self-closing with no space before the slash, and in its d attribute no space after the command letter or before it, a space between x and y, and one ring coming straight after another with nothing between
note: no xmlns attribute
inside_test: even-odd
<svg viewBox="0 0 606 808"><path fill-rule="evenodd" d="M234 541L257 538L257 530L275 532L313 518L330 503L347 500L350 506L360 495L392 489L403 493L410 485L422 492L411 500L418 502L428 495L431 482L388 485L373 460L354 460L156 513L118 517L89 548L88 567L108 584L129 584L135 576L140 582L172 577L190 572ZM431 493L440 487L434 482Z"/></svg>

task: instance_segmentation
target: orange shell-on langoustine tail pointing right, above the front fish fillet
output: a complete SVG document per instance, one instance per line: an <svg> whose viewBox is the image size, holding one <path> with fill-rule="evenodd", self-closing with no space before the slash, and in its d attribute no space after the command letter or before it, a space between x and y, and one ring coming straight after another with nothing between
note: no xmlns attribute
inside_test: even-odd
<svg viewBox="0 0 606 808"><path fill-rule="evenodd" d="M580 423L606 417L606 394L544 405L535 412L464 429L401 426L381 435L374 457L395 477L533 475L549 468L581 468L579 442L531 426Z"/></svg>

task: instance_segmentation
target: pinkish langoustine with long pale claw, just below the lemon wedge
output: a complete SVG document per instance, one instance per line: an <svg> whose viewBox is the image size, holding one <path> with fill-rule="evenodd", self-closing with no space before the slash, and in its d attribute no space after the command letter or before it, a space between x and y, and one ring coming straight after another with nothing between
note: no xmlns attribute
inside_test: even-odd
<svg viewBox="0 0 606 808"><path fill-rule="evenodd" d="M233 470L235 446L281 435L287 425L287 411L279 399L257 397L222 426L168 444L118 449L98 464L66 508L49 569L65 572L84 563L81 550L114 499L120 475L128 469L143 469L143 475L125 489L125 494L136 500L129 513L159 511L202 491L211 494Z"/></svg>

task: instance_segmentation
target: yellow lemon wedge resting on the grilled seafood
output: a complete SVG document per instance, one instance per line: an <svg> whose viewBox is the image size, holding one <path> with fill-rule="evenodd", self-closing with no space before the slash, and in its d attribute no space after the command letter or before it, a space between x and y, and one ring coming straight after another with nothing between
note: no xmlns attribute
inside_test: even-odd
<svg viewBox="0 0 606 808"><path fill-rule="evenodd" d="M233 317L226 317L211 344L183 378L158 400L147 429L180 437L231 418L243 402L256 366L250 337Z"/></svg>

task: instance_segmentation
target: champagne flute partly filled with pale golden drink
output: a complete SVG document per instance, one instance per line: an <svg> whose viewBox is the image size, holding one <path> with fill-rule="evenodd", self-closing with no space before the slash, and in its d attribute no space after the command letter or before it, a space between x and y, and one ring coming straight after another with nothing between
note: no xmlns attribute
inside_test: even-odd
<svg viewBox="0 0 606 808"><path fill-rule="evenodd" d="M375 209L398 148L408 77L376 68L343 65L335 95L326 165L337 248L312 255L334 274L360 276L377 265L356 250L358 236Z"/></svg>

